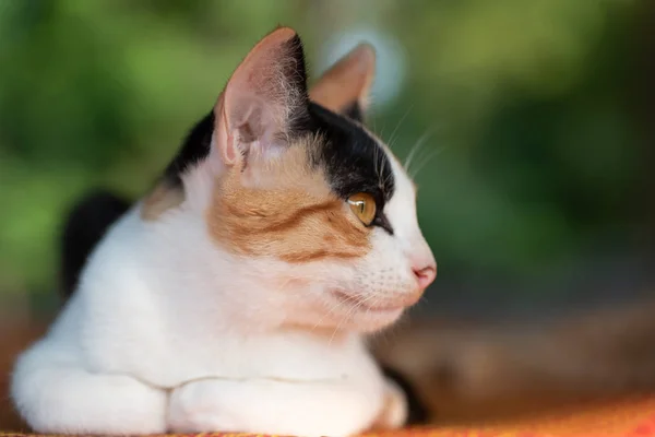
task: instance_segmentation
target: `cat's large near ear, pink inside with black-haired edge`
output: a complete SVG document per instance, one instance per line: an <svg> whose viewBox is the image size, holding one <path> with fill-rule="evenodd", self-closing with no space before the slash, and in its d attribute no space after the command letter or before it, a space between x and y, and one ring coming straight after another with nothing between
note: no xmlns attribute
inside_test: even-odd
<svg viewBox="0 0 655 437"><path fill-rule="evenodd" d="M214 107L223 163L242 165L279 151L308 116L308 102L302 43L279 27L250 50Z"/></svg>

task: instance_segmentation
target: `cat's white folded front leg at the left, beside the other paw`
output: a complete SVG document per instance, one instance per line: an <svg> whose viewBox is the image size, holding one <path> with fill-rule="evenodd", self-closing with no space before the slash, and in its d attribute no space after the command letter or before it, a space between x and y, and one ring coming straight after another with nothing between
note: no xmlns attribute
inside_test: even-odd
<svg viewBox="0 0 655 437"><path fill-rule="evenodd" d="M27 424L48 434L166 432L167 393L128 376L86 371L75 354L41 341L19 357L11 397Z"/></svg>

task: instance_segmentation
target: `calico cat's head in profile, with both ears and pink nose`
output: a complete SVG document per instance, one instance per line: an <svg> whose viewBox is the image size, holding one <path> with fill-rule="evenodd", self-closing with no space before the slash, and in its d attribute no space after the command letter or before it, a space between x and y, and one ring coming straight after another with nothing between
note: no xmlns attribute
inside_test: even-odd
<svg viewBox="0 0 655 437"><path fill-rule="evenodd" d="M189 135L144 217L198 197L194 173L209 173L199 212L213 247L235 260L224 274L243 300L263 299L289 326L372 331L395 321L437 267L413 181L362 125L374 63L361 45L308 90L298 35L269 34Z"/></svg>

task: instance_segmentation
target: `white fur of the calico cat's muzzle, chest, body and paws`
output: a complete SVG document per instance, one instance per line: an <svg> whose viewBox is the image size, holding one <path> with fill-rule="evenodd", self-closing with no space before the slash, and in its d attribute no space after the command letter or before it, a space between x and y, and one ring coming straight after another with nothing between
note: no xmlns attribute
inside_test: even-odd
<svg viewBox="0 0 655 437"><path fill-rule="evenodd" d="M389 306L416 293L413 265L433 262L412 182L391 161L394 235L376 228L355 263L291 265L221 249L204 221L211 160L186 175L180 208L144 222L136 204L92 253L48 334L20 356L11 395L21 414L39 433L366 429L390 387L361 333L402 308L346 307L330 292Z"/></svg>

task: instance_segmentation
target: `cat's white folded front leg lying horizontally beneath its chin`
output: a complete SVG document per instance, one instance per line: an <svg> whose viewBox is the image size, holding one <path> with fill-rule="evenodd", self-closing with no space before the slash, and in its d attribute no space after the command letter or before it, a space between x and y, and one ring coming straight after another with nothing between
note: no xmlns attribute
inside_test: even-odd
<svg viewBox="0 0 655 437"><path fill-rule="evenodd" d="M204 379L172 391L168 425L178 433L349 436L370 427L382 405L382 387Z"/></svg>

